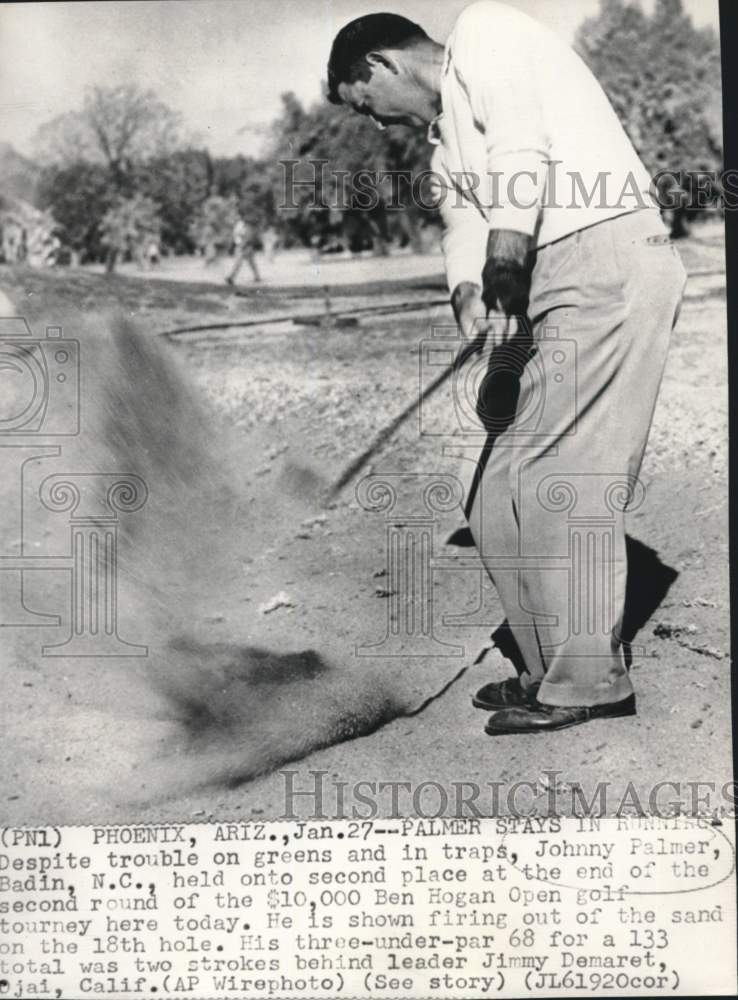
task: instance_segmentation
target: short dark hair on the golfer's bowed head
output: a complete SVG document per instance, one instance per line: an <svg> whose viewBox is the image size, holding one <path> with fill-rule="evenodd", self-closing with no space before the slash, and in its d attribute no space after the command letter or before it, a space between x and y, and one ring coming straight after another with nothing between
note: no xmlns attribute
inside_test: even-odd
<svg viewBox="0 0 738 1000"><path fill-rule="evenodd" d="M339 84L371 77L372 68L366 61L369 52L406 48L427 37L419 24L399 14L367 14L350 21L333 39L328 59L328 100L340 104Z"/></svg>

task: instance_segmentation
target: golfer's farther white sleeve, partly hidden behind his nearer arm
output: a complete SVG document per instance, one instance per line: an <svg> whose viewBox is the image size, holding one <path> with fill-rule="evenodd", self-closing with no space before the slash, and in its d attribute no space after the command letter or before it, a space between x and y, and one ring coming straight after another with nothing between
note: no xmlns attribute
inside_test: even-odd
<svg viewBox="0 0 738 1000"><path fill-rule="evenodd" d="M433 193L443 223L441 246L450 292L462 281L482 284L489 227L451 180L437 149L431 160Z"/></svg>

